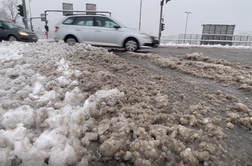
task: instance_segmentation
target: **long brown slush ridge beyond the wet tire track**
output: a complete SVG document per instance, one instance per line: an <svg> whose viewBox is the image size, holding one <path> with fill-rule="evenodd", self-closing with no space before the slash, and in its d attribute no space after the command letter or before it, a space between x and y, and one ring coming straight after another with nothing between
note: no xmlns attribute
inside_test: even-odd
<svg viewBox="0 0 252 166"><path fill-rule="evenodd" d="M188 54L179 59L165 58L157 54L132 52L128 52L128 55L149 60L163 68L171 68L197 77L214 79L252 91L252 68L250 66L235 64L222 59L213 59L199 53Z"/></svg>

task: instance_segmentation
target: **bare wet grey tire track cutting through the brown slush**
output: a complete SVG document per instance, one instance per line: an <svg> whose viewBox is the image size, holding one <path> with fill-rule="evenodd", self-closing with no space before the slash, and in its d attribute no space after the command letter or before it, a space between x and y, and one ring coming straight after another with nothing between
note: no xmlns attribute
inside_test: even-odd
<svg viewBox="0 0 252 166"><path fill-rule="evenodd" d="M122 52L117 52L116 54L127 60L129 63L141 66L153 74L162 75L166 79L172 80L176 82L175 84L180 85L178 86L180 89L175 90L172 94L168 94L171 103L179 100L180 97L177 94L178 92L183 92L186 96L190 96L186 103L187 106L190 106L199 103L205 98L205 94L212 94L221 90L225 94L234 95L238 98L237 102L242 101L251 108L251 92L238 90L234 86L226 86L214 80L195 77L189 74L181 73L177 70L161 68L148 60L131 57ZM228 107L230 104L232 105L233 103L226 102L225 105L221 106L219 109L216 107L217 111L215 111L215 115L212 114L210 116L216 116L217 114L224 117L225 113L221 110L225 110L225 107ZM225 124L225 122L221 122L220 126L225 129L224 131L227 137L220 143L226 147L230 157L238 158L238 163L242 163L243 165L250 163L252 161L252 151L248 145L252 143L251 131L240 125L235 125L234 130L229 130L226 128Z"/></svg>

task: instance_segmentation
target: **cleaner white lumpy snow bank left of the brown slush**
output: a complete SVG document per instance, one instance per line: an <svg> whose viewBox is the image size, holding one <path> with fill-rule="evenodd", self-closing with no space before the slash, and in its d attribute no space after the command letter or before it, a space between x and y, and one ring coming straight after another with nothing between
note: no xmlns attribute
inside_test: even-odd
<svg viewBox="0 0 252 166"><path fill-rule="evenodd" d="M81 47L95 50L88 45ZM74 51L57 43L1 43L3 165L76 164L79 155L86 151L79 147L88 129L84 119L89 119L89 114L94 114L91 111L104 100L114 103L123 97L117 89L98 90L89 98L83 96L78 80L71 78L81 72L71 70L64 57ZM82 140L90 140L86 137Z"/></svg>

